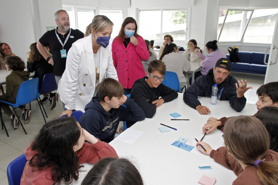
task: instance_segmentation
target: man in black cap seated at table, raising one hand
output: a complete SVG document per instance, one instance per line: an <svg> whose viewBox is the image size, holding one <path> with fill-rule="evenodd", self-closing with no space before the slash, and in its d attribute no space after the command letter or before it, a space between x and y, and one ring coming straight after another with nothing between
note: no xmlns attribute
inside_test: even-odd
<svg viewBox="0 0 278 185"><path fill-rule="evenodd" d="M211 97L211 90L214 84L217 84L219 100L229 100L233 109L240 112L246 104L244 93L252 88L246 87L247 81L238 81L230 76L232 63L229 59L221 58L217 60L214 68L208 71L208 74L200 76L184 92L183 101L190 107L198 110L200 114L211 113L206 106L202 106L198 96Z"/></svg>

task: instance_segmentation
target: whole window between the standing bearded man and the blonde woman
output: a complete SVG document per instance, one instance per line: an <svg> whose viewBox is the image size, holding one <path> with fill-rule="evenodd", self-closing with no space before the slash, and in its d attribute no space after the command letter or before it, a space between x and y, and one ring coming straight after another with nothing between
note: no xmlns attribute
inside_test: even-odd
<svg viewBox="0 0 278 185"><path fill-rule="evenodd" d="M92 23L95 17L95 10L64 6L63 9L69 14L70 27L72 29L78 29L85 34L86 27Z"/></svg>

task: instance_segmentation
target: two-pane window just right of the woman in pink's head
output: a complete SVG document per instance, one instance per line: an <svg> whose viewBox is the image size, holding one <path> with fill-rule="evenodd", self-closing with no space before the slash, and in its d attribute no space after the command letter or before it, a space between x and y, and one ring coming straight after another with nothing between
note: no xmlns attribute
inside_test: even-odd
<svg viewBox="0 0 278 185"><path fill-rule="evenodd" d="M144 39L186 40L187 10L139 10L139 31Z"/></svg>

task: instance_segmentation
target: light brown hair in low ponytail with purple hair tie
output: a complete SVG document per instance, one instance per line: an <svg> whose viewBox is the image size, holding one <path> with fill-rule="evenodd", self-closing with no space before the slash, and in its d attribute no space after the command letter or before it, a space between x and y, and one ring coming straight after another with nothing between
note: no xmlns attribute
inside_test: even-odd
<svg viewBox="0 0 278 185"><path fill-rule="evenodd" d="M270 145L265 126L253 116L229 118L224 126L224 142L230 154L247 165L263 160ZM263 185L278 185L277 161L261 161L257 168Z"/></svg>

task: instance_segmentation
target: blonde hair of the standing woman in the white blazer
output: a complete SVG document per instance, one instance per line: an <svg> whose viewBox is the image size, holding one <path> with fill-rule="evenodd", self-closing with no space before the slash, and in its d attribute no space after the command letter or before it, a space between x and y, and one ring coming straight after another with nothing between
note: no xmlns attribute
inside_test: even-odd
<svg viewBox="0 0 278 185"><path fill-rule="evenodd" d="M86 32L84 37L92 33L91 31L92 28L93 28L93 33L96 33L105 30L111 25L114 26L114 24L108 17L106 17L105 15L96 15L92 20L92 23L86 27Z"/></svg>

